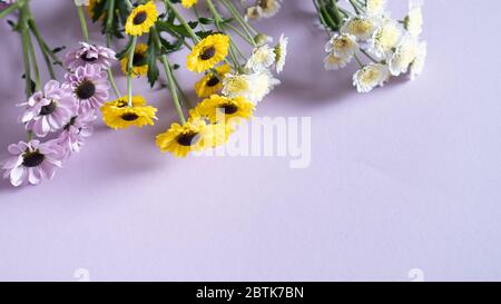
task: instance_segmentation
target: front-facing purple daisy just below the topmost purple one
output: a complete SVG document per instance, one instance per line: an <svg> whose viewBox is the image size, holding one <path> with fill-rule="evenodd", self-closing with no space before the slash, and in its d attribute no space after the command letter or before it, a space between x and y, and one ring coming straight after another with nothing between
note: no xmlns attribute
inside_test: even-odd
<svg viewBox="0 0 501 304"><path fill-rule="evenodd" d="M63 86L77 98L80 114L99 109L109 97L108 77L98 65L78 67L73 73L66 73L65 79Z"/></svg>

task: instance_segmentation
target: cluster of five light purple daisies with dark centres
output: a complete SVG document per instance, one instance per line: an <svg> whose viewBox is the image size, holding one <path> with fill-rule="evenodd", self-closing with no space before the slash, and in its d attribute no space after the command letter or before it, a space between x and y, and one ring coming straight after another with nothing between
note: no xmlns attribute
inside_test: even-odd
<svg viewBox="0 0 501 304"><path fill-rule="evenodd" d="M114 58L110 49L81 42L80 48L66 55L68 72L62 84L51 79L19 104L23 108L19 120L29 140L11 145L9 151L14 156L2 165L4 177L13 186L37 185L52 178L55 167L80 151L85 139L92 135L96 110L108 99L110 86L105 70ZM40 143L51 134L53 138Z"/></svg>

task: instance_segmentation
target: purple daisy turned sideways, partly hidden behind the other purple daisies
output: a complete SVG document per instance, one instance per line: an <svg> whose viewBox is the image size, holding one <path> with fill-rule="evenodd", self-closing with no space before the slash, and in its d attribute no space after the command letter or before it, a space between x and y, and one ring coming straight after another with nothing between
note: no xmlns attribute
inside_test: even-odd
<svg viewBox="0 0 501 304"><path fill-rule="evenodd" d="M56 141L62 147L66 158L69 157L71 153L80 151L85 139L90 137L94 133L92 124L96 118L94 111L88 111L79 116L73 116L65 126Z"/></svg>

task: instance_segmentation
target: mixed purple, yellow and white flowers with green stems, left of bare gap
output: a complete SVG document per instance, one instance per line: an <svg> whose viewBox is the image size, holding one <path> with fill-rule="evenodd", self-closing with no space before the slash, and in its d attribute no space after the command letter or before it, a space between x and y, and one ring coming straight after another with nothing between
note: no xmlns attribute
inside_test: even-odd
<svg viewBox="0 0 501 304"><path fill-rule="evenodd" d="M230 0L75 0L82 41L68 41L78 47L61 58L65 48L48 46L30 0L1 2L1 18L17 17L9 23L21 37L24 62L26 100L19 102L19 122L27 139L10 145L12 157L1 165L13 186L51 179L56 168L80 151L98 116L111 129L141 128L160 120L156 107L134 95L134 82L145 79L154 87L161 72L178 121L156 137L159 150L185 157L224 145L279 84L275 75L285 65L287 38L269 45L271 38L255 30L244 9ZM278 1L272 2L279 8ZM101 24L102 41L90 41L88 20ZM35 47L50 75L47 81L40 77ZM169 59L181 50L189 53L183 68L200 75L193 86L197 100L189 100L179 86L176 71L181 67ZM127 77L125 95L115 81L115 65ZM62 79L57 79L55 68L63 70Z"/></svg>

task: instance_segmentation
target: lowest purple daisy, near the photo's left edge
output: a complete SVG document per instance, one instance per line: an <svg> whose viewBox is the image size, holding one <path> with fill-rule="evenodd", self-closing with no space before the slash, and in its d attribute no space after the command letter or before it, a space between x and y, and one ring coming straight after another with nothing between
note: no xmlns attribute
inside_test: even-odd
<svg viewBox="0 0 501 304"><path fill-rule="evenodd" d="M14 187L51 179L56 167L62 166L62 148L53 140L42 144L38 140L19 141L10 145L8 150L14 156L3 161L3 178L10 178Z"/></svg>

